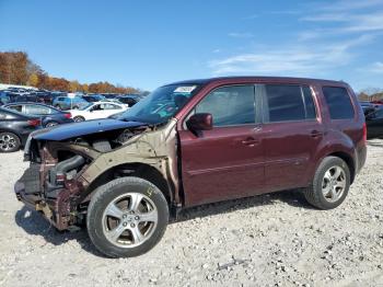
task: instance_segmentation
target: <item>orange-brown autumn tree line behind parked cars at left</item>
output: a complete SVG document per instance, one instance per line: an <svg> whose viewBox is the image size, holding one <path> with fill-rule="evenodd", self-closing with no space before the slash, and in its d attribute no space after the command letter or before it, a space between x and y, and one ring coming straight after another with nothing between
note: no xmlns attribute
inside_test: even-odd
<svg viewBox="0 0 383 287"><path fill-rule="evenodd" d="M84 93L141 93L131 87L114 85L107 81L80 83L49 76L24 51L0 51L0 83L32 85L38 89Z"/></svg>

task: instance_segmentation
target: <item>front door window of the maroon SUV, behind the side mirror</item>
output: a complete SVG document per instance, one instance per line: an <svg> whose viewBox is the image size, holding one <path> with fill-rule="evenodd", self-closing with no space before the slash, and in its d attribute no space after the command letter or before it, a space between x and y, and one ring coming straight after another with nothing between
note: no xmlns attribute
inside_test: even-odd
<svg viewBox="0 0 383 287"><path fill-rule="evenodd" d="M213 126L254 124L254 85L219 88L196 106L196 113L210 113Z"/></svg>

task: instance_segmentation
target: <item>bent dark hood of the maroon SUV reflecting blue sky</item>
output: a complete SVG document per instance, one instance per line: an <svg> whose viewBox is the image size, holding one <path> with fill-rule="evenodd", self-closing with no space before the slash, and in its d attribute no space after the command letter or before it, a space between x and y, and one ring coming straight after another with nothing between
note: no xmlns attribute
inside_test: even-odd
<svg viewBox="0 0 383 287"><path fill-rule="evenodd" d="M94 119L40 129L38 131L32 133L31 137L37 140L58 141L95 133L103 133L120 128L139 127L144 125L147 124L140 122L124 122L118 119Z"/></svg>

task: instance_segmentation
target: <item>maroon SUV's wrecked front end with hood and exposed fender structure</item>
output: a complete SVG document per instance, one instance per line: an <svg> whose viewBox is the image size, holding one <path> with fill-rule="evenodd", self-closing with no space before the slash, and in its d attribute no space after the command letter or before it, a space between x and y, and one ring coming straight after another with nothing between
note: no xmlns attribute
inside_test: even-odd
<svg viewBox="0 0 383 287"><path fill-rule="evenodd" d="M31 134L30 168L15 183L19 200L40 211L59 230L81 223L92 192L111 177L150 167L177 188L175 120L161 128L105 119Z"/></svg>

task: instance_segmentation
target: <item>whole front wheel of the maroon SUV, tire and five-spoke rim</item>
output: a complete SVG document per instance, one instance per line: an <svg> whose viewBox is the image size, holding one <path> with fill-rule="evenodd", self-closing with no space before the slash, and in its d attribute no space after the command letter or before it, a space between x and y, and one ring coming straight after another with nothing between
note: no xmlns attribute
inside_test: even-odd
<svg viewBox="0 0 383 287"><path fill-rule="evenodd" d="M93 244L111 257L141 255L161 240L169 221L167 202L152 183L134 176L100 186L88 207Z"/></svg>

